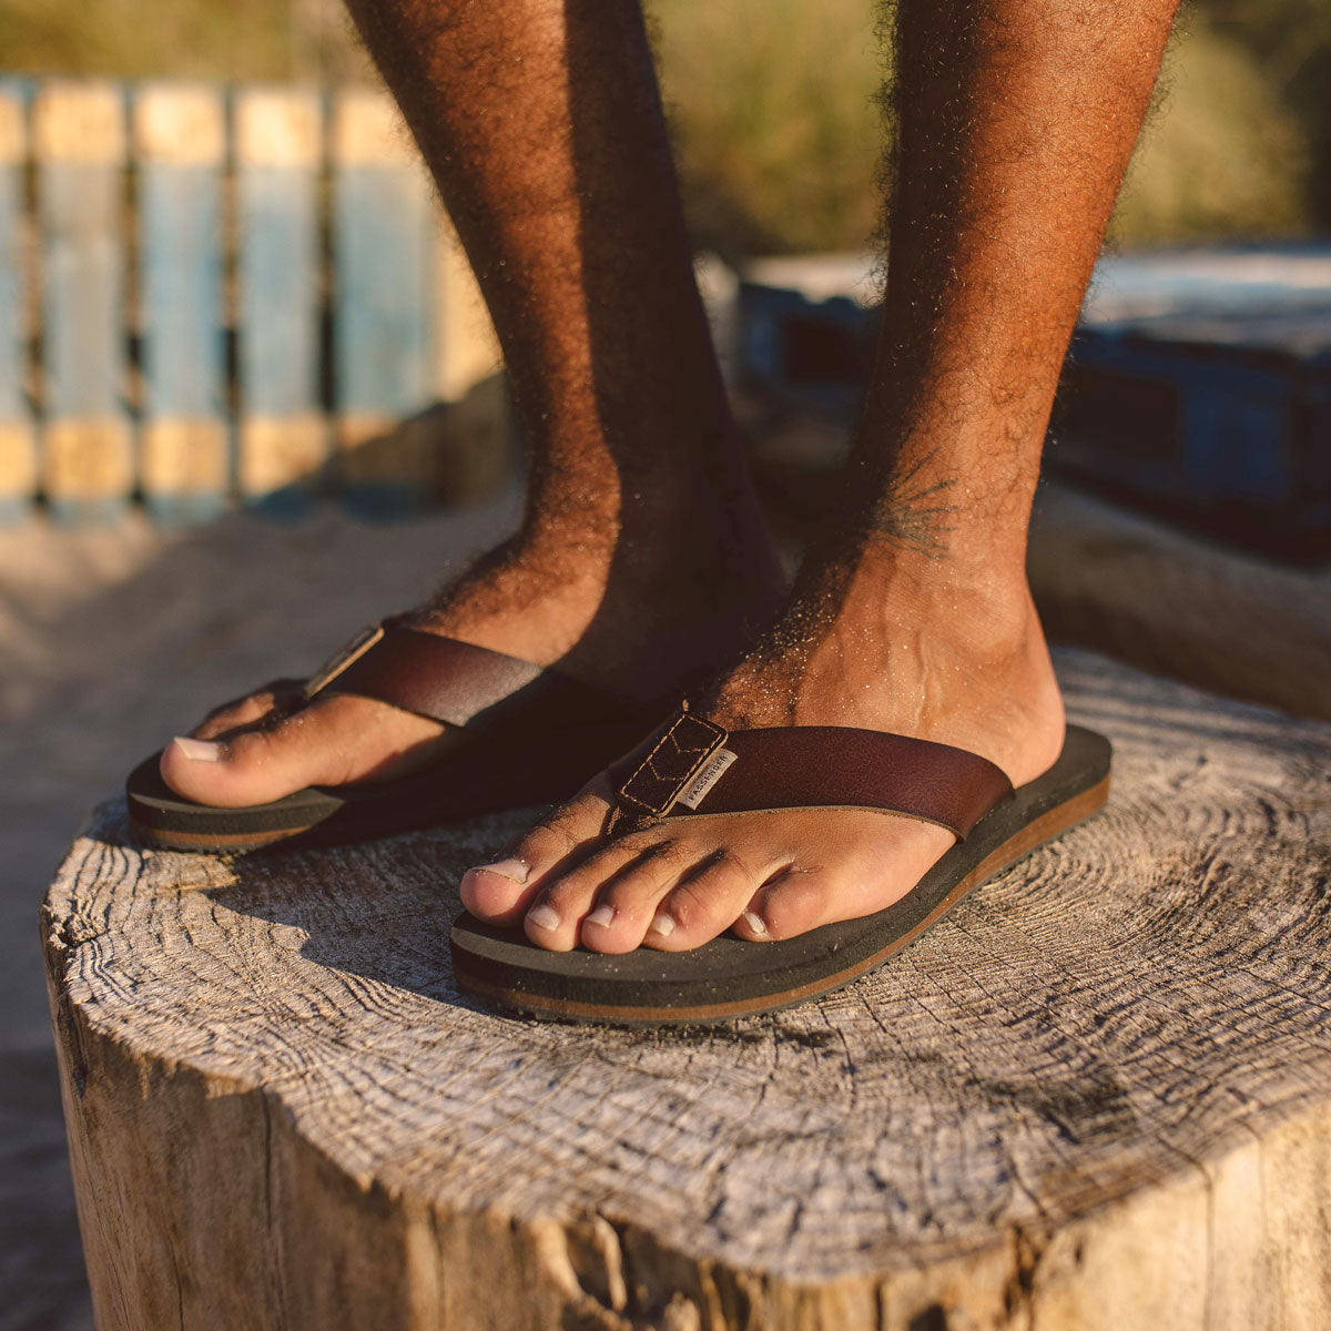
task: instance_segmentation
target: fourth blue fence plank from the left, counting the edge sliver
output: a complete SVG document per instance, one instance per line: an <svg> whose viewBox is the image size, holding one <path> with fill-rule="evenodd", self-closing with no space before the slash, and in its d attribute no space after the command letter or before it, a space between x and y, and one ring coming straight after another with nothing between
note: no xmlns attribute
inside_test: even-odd
<svg viewBox="0 0 1331 1331"><path fill-rule="evenodd" d="M319 387L322 102L249 88L234 104L240 229L238 483L276 516L307 511L327 461Z"/></svg>

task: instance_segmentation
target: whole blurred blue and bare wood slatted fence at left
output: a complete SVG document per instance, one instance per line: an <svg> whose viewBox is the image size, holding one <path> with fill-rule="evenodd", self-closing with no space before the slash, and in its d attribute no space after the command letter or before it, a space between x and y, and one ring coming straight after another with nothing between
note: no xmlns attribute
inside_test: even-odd
<svg viewBox="0 0 1331 1331"><path fill-rule="evenodd" d="M382 93L0 81L9 520L414 507L502 466L498 367Z"/></svg>

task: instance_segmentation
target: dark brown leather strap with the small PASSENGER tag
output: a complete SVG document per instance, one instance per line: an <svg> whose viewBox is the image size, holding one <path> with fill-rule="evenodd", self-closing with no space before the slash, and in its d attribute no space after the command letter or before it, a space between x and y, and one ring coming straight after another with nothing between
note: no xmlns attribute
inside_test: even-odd
<svg viewBox="0 0 1331 1331"><path fill-rule="evenodd" d="M687 708L616 776L635 821L856 808L937 823L958 840L1013 793L1001 768L950 744L848 725L727 732Z"/></svg>

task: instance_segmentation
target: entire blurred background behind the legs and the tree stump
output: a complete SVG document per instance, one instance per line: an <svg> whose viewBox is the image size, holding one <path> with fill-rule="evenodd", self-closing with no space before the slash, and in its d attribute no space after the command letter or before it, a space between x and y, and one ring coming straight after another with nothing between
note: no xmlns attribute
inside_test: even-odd
<svg viewBox="0 0 1331 1331"><path fill-rule="evenodd" d="M648 0L792 559L855 422L869 0ZM335 0L0 0L0 1331L91 1327L36 906L85 811L516 520L466 264ZM1195 0L1059 391L1051 636L1331 720L1331 7Z"/></svg>

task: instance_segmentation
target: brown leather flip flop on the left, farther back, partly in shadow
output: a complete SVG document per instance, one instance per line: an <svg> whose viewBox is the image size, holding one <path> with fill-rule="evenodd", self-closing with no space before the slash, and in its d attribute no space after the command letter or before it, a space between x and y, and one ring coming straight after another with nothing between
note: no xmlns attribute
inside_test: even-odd
<svg viewBox="0 0 1331 1331"><path fill-rule="evenodd" d="M453 727L455 743L410 776L309 787L246 808L177 795L161 779L158 752L125 783L140 840L210 852L278 841L333 845L548 804L574 795L672 705L620 697L556 669L422 632L406 616L365 630L305 684L277 684L297 708L329 693L391 703Z"/></svg>

